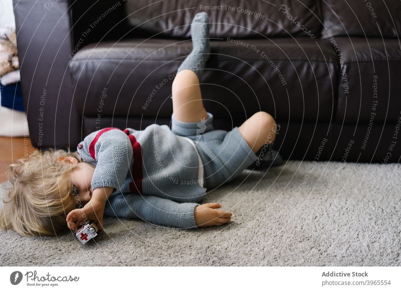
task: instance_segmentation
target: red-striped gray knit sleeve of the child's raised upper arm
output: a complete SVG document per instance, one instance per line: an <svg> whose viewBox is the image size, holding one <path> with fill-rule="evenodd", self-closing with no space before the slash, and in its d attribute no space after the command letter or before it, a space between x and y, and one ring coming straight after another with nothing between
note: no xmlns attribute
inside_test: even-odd
<svg viewBox="0 0 401 291"><path fill-rule="evenodd" d="M78 145L78 153L83 161L96 164L92 190L120 190L132 164L132 145L126 133L115 127L94 131Z"/></svg>

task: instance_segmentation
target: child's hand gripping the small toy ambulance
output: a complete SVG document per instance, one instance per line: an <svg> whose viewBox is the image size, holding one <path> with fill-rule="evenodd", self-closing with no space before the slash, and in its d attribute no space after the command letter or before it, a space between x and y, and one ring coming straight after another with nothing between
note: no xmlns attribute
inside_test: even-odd
<svg viewBox="0 0 401 291"><path fill-rule="evenodd" d="M76 230L88 220L94 220L99 230L102 229L105 204L105 201L92 197L83 208L70 211L67 215L68 228Z"/></svg>

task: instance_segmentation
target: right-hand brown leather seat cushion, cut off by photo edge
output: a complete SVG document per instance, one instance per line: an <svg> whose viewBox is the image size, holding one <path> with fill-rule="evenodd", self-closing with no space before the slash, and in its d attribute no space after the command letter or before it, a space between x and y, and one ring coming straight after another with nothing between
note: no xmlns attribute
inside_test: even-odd
<svg viewBox="0 0 401 291"><path fill-rule="evenodd" d="M337 123L396 121L401 110L397 39L336 37L340 49Z"/></svg>

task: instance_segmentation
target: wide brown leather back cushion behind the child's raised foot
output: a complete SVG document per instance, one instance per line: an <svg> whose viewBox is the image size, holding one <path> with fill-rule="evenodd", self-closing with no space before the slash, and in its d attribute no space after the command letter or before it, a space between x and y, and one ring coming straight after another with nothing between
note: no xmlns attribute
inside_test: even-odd
<svg viewBox="0 0 401 291"><path fill-rule="evenodd" d="M133 34L141 36L190 38L189 24L200 11L213 22L210 37L316 37L322 29L318 0L125 1Z"/></svg>

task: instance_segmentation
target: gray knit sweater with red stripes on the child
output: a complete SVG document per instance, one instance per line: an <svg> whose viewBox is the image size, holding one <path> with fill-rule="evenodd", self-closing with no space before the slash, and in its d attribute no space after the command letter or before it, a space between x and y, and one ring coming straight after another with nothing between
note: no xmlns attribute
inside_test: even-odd
<svg viewBox="0 0 401 291"><path fill-rule="evenodd" d="M92 190L114 187L104 215L196 228L194 209L206 195L203 164L189 138L167 125L143 130L107 127L78 144L82 161L94 164ZM200 175L202 173L202 175Z"/></svg>

